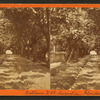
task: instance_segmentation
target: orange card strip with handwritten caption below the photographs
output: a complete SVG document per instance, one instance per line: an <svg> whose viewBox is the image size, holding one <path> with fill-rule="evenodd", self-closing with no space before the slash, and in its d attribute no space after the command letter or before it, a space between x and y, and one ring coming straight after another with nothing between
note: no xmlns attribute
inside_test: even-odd
<svg viewBox="0 0 100 100"><path fill-rule="evenodd" d="M0 90L1 96L100 96L100 90Z"/></svg>

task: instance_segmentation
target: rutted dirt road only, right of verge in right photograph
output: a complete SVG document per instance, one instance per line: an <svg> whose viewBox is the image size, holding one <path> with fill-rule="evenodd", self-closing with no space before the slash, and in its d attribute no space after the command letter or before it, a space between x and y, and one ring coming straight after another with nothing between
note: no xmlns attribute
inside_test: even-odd
<svg viewBox="0 0 100 100"><path fill-rule="evenodd" d="M91 56L71 89L100 89L100 56Z"/></svg>

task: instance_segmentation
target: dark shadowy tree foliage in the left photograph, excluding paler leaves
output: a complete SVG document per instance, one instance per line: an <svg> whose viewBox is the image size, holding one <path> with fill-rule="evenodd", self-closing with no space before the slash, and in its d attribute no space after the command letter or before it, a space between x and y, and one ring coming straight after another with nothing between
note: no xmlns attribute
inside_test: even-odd
<svg viewBox="0 0 100 100"><path fill-rule="evenodd" d="M33 61L47 61L49 51L48 15L45 8L1 8L10 21L9 35L13 35L8 48L15 54ZM10 36L9 36L10 38ZM48 61L47 61L48 62Z"/></svg>

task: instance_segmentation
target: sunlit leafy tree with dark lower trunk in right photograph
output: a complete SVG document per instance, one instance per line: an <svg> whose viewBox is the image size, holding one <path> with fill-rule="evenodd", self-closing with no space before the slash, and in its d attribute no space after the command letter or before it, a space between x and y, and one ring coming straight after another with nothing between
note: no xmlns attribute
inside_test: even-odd
<svg viewBox="0 0 100 100"><path fill-rule="evenodd" d="M54 45L66 51L65 61L88 53L95 46L94 21L82 8L55 8L52 13Z"/></svg>

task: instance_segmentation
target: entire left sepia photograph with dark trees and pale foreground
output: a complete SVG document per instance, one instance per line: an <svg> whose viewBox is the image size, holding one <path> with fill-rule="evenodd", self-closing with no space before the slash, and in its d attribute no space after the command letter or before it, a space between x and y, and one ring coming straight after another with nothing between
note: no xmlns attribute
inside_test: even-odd
<svg viewBox="0 0 100 100"><path fill-rule="evenodd" d="M50 89L49 11L0 8L0 89Z"/></svg>

